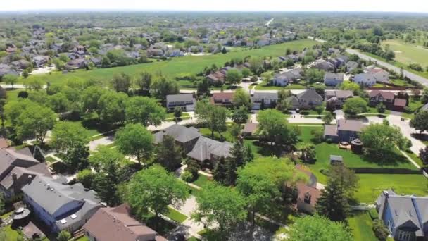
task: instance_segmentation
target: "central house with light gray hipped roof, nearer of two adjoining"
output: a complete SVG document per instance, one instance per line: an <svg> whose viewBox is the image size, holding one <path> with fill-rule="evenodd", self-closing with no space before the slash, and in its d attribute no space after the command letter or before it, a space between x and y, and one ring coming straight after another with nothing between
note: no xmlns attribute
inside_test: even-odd
<svg viewBox="0 0 428 241"><path fill-rule="evenodd" d="M218 159L230 156L229 149L232 148L230 142L218 142L207 137L199 137L194 148L187 154L191 159L201 163L208 161L213 166Z"/></svg>

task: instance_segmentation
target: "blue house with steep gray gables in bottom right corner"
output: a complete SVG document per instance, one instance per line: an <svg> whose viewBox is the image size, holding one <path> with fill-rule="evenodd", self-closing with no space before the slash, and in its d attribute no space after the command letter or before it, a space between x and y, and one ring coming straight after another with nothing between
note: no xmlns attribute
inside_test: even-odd
<svg viewBox="0 0 428 241"><path fill-rule="evenodd" d="M427 240L428 197L384 190L376 200L376 209L394 240Z"/></svg>

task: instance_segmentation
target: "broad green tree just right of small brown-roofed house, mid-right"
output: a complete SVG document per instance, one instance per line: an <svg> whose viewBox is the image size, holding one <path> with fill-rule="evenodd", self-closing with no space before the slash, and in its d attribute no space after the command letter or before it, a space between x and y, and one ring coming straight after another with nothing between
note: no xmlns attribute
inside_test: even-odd
<svg viewBox="0 0 428 241"><path fill-rule="evenodd" d="M259 111L258 134L271 144L292 145L298 142L298 132L287 125L287 118L275 109Z"/></svg>

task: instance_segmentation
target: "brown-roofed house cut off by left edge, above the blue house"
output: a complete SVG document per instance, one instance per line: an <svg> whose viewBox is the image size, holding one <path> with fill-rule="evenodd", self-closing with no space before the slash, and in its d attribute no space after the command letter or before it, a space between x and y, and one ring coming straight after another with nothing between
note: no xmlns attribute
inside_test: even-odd
<svg viewBox="0 0 428 241"><path fill-rule="evenodd" d="M46 163L34 159L31 150L0 149L0 190L6 198L21 192L37 175L51 176Z"/></svg>

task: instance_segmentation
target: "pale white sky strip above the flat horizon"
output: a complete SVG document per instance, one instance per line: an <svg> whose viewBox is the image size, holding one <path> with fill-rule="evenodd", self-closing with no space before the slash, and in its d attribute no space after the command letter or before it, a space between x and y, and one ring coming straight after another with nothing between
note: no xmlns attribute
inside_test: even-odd
<svg viewBox="0 0 428 241"><path fill-rule="evenodd" d="M0 11L392 11L428 13L427 0L1 0Z"/></svg>

